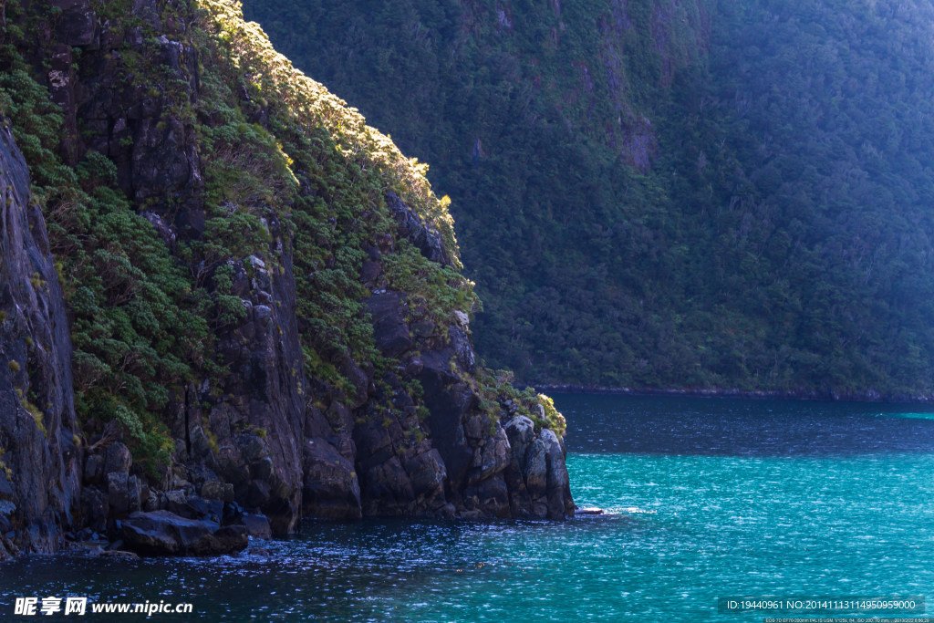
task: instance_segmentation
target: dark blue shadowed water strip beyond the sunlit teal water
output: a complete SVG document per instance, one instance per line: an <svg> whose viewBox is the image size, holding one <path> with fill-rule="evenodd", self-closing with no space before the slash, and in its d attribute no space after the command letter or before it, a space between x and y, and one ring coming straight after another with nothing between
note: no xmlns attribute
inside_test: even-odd
<svg viewBox="0 0 934 623"><path fill-rule="evenodd" d="M918 405L559 395L577 452L730 456L928 453ZM932 409L934 410L934 409Z"/></svg>

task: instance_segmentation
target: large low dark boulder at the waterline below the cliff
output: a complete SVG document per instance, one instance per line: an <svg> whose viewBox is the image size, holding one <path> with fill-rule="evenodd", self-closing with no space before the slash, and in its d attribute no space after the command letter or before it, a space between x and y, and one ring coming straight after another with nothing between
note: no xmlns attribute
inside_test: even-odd
<svg viewBox="0 0 934 623"><path fill-rule="evenodd" d="M123 521L123 544L142 556L220 556L249 545L245 526L178 517L168 511L134 513Z"/></svg>

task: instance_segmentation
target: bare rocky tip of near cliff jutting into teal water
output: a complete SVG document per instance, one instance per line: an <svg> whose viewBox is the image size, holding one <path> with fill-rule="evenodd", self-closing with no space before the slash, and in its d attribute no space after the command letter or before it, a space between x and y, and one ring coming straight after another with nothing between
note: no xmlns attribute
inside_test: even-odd
<svg viewBox="0 0 934 623"><path fill-rule="evenodd" d="M559 437L536 431L510 401L481 408L466 315L453 315L444 337L420 337L405 299L389 290L367 301L376 346L406 364L391 397L397 410L382 420L364 410L354 429L363 514L573 517ZM411 380L423 392L424 421L403 389Z"/></svg>

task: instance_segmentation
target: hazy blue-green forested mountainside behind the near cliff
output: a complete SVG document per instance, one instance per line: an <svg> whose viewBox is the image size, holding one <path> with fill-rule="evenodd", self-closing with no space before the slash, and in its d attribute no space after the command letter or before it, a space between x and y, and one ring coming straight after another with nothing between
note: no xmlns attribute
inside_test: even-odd
<svg viewBox="0 0 934 623"><path fill-rule="evenodd" d="M248 0L432 164L522 380L934 387L934 9L834 0Z"/></svg>

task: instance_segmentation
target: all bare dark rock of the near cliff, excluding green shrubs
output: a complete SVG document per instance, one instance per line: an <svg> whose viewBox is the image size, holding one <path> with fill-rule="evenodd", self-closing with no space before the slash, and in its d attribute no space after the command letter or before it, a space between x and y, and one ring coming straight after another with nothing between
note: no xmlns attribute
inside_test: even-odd
<svg viewBox="0 0 934 623"><path fill-rule="evenodd" d="M302 517L573 515L559 437L541 428L544 414L535 423L503 396L484 394L467 313L414 314L410 293L387 283L382 254L401 240L432 265L456 264L437 228L383 189L377 203L391 231L367 241L361 318L369 314L375 349L389 363L332 346L321 356L340 382L308 375L288 209L250 197L262 244L246 257L191 259L191 247L210 242L197 124L212 122L177 104L202 97L192 15L183 3L138 0L144 25L120 26L85 0L52 4L61 19L33 52L41 65L52 50L47 86L64 113L63 158L106 156L116 186L177 262L207 295L222 269L225 296L243 313L217 323L205 353L219 363L214 371L167 389L160 415L175 447L161 472L134 461L116 425L88 422L82 451L62 291L26 165L5 130L0 555L53 549L69 527L78 540L122 539L143 555L213 554L242 549L247 535L295 531ZM301 192L315 196L308 184ZM216 206L211 214L218 218Z"/></svg>

